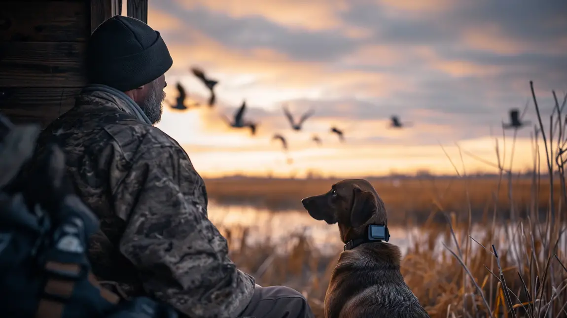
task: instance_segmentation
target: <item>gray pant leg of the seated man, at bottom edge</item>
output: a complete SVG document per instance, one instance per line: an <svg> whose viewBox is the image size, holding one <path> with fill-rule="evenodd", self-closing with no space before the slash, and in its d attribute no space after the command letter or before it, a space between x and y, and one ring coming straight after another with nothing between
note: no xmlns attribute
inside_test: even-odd
<svg viewBox="0 0 567 318"><path fill-rule="evenodd" d="M250 303L238 317L315 318L307 300L297 290L284 286L259 285L256 285Z"/></svg>

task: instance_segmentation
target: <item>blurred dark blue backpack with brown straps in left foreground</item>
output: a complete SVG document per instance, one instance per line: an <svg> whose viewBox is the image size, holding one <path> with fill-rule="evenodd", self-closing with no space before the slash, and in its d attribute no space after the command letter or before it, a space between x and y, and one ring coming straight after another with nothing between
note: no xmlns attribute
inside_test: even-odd
<svg viewBox="0 0 567 318"><path fill-rule="evenodd" d="M87 258L88 238L98 230L98 218L75 194L62 192L51 198L57 204L45 209L39 203L30 203L26 191L17 190L23 188L22 183L35 183L32 189L41 191L48 183L42 183L43 176L39 175L22 181L23 177L14 172L22 168L24 160L13 157L29 149L26 142L35 144L33 130L19 131L32 132L28 138L12 138L15 134L11 134L12 139L7 140L7 132L16 131L14 127L0 115L0 168L2 174L10 172L13 179L0 176L0 316L177 318L175 310L166 304L146 297L120 299L99 285ZM62 152L53 146L51 156L44 160L53 163L57 155L62 156ZM50 163L43 167L52 167ZM56 172L46 171L44 175L52 177ZM18 181L22 181L19 187L7 186ZM43 189L49 193L50 189Z"/></svg>

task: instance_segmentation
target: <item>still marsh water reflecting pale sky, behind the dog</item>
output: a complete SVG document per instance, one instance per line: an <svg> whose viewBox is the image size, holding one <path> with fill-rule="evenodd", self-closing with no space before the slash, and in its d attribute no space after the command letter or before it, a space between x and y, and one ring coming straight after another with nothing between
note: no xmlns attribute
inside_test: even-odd
<svg viewBox="0 0 567 318"><path fill-rule="evenodd" d="M314 244L321 253L327 255L336 255L342 251L342 243L338 237L338 227L336 224L329 225L324 221L317 221L309 216L305 210L291 210L280 213L273 213L266 209L257 208L254 206L244 205L218 205L214 201L209 201L209 219L215 226L223 232L223 228L236 229L248 228L249 235L247 236L248 244L255 244L262 241L270 240L276 243L277 250L275 252L289 251L290 237L294 234L306 234L310 238L310 244ZM527 226L527 224L521 224ZM567 230L567 226L564 227ZM390 231L390 243L397 245L402 253L406 253L408 247L414 246L417 242L425 244L426 236L424 231L417 226L404 227L404 226L391 226L388 227ZM486 235L488 228L486 225L473 224L471 228L471 236L477 241L481 241ZM238 231L234 231L234 241L239 241ZM496 228L496 239L490 242L494 244L498 251L505 249L511 253L511 256L523 255L525 249L522 248L522 230L521 226L498 226ZM543 231L545 233L545 231ZM225 234L225 233L223 233ZM443 243L447 247L456 251L454 240L449 235L440 233L437 239L434 240L435 252L445 253ZM447 232L448 234L448 232ZM468 236L464 240L460 239L457 234L459 244L463 244L464 240L470 240ZM242 236L241 236L242 237ZM293 239L292 239L293 240ZM481 248L478 244L471 241L473 249ZM486 246L490 248L490 245ZM567 235L561 237L558 242L558 248L567 249Z"/></svg>

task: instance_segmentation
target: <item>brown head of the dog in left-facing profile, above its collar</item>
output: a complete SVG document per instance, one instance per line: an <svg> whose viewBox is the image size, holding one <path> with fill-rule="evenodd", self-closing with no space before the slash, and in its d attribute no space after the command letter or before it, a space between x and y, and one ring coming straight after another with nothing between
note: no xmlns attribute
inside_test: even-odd
<svg viewBox="0 0 567 318"><path fill-rule="evenodd" d="M367 224L388 225L384 202L363 179L342 180L333 184L329 192L301 202L312 218L328 224L338 223L344 240L349 239L346 235L362 235Z"/></svg>

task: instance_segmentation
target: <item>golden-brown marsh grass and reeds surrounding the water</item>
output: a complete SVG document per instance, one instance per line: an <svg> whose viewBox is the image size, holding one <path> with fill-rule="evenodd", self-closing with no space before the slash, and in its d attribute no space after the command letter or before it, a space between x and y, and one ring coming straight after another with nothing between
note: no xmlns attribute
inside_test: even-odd
<svg viewBox="0 0 567 318"><path fill-rule="evenodd" d="M567 269L563 266L567 246L565 240L558 247L555 244L566 228L565 203L557 183L555 222L545 223L551 191L547 179L542 177L539 185L537 179L513 178L511 187L499 179L401 180L399 186L392 180L369 179L386 202L389 223L415 220L421 224L424 235L409 247L401 273L431 317L567 317ZM336 181L216 179L206 180L206 186L209 199L218 203L285 213L282 210L302 209L301 198L326 192ZM515 221L510 219L511 210ZM450 215L455 239L444 214ZM437 217L424 222L431 215ZM473 222L486 228L487 235L479 243L490 251L495 245L500 266L492 252L476 248L479 245L468 238ZM497 223L513 231L505 233ZM323 317L329 275L341 251L324 256L308 236L297 235L290 238L291 252L277 255L276 243L266 239L250 245L246 243L249 229L239 236L232 230L221 229L240 269L253 274L260 285L284 285L303 292L316 317ZM462 256L458 259L436 249L439 238ZM515 244L507 247L502 242Z"/></svg>

